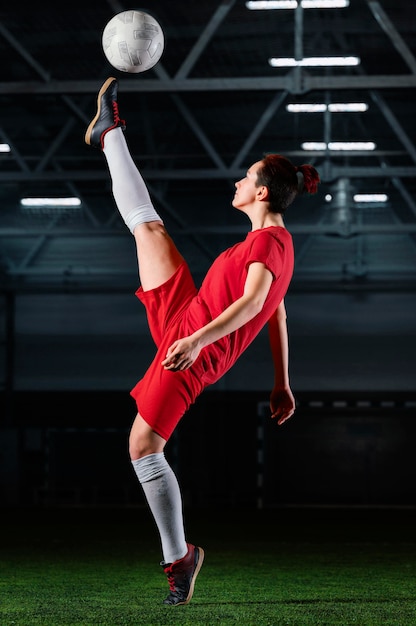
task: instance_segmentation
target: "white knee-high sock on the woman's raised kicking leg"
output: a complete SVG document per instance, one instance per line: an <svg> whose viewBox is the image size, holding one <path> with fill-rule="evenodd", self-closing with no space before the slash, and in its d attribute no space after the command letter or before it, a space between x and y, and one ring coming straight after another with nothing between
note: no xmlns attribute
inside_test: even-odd
<svg viewBox="0 0 416 626"><path fill-rule="evenodd" d="M120 127L110 130L104 138L105 158L113 186L117 208L133 233L144 222L162 221L155 211L146 184L134 163Z"/></svg>

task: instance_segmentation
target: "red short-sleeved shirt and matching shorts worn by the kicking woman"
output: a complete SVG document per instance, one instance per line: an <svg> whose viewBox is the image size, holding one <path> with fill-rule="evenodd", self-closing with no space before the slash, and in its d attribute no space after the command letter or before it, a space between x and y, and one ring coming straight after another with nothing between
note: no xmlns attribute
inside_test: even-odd
<svg viewBox="0 0 416 626"><path fill-rule="evenodd" d="M243 295L248 267L254 262L263 263L273 275L262 310L241 328L203 348L189 369L165 370L161 362L176 339L205 326ZM293 265L291 235L285 228L270 226L249 232L244 241L220 254L199 290L185 262L163 285L137 290L157 353L131 395L140 415L161 437L169 439L198 395L232 367L275 313L286 294Z"/></svg>

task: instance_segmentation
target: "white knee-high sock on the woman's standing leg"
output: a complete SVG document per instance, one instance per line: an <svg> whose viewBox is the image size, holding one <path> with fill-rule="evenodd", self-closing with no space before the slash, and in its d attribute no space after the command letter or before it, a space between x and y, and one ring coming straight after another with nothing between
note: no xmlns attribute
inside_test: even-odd
<svg viewBox="0 0 416 626"><path fill-rule="evenodd" d="M159 530L163 560L173 563L188 551L176 476L163 452L149 454L132 464Z"/></svg>

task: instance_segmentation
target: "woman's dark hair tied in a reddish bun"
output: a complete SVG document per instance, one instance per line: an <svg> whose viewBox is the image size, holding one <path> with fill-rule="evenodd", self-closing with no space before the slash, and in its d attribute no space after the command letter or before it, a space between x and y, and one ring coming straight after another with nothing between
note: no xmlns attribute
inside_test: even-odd
<svg viewBox="0 0 416 626"><path fill-rule="evenodd" d="M299 194L316 193L319 174L313 165L293 165L280 154L267 154L257 172L256 186L269 190L270 210L284 213Z"/></svg>

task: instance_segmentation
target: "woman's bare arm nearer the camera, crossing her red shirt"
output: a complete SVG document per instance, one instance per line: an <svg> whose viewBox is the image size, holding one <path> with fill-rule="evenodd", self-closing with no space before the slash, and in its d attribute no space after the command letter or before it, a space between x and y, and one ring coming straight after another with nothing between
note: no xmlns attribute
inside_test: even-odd
<svg viewBox="0 0 416 626"><path fill-rule="evenodd" d="M163 367L174 371L188 369L202 348L247 324L263 308L272 281L272 273L263 263L251 263L243 295L192 335L176 340L162 361Z"/></svg>

